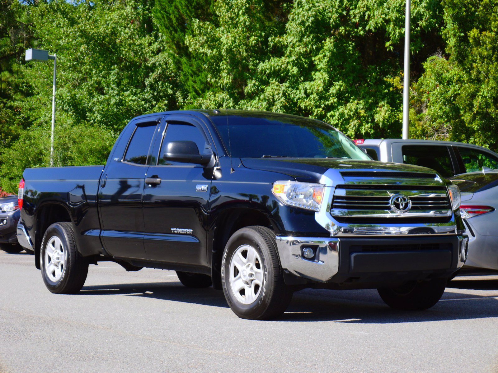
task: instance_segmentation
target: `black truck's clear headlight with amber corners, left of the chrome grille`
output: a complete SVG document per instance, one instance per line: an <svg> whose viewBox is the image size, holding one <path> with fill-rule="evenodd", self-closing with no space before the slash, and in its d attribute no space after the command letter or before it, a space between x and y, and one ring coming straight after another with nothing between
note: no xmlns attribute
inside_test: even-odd
<svg viewBox="0 0 498 373"><path fill-rule="evenodd" d="M273 183L272 192L284 204L318 211L322 204L324 186L312 183L278 181Z"/></svg>

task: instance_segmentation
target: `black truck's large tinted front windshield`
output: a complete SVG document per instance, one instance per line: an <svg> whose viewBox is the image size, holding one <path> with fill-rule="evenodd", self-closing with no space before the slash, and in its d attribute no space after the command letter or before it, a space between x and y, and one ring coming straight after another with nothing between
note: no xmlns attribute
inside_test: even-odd
<svg viewBox="0 0 498 373"><path fill-rule="evenodd" d="M370 160L349 138L317 120L271 113L211 119L232 157Z"/></svg>

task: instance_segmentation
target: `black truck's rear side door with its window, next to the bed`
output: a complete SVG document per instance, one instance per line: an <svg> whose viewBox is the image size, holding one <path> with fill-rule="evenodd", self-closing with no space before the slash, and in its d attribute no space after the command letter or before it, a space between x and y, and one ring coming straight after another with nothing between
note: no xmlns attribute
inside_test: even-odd
<svg viewBox="0 0 498 373"><path fill-rule="evenodd" d="M116 154L120 152L116 149L101 182L101 237L104 248L114 257L146 259L143 247L143 179L158 119L160 117L132 122L126 128L129 140L121 154Z"/></svg>

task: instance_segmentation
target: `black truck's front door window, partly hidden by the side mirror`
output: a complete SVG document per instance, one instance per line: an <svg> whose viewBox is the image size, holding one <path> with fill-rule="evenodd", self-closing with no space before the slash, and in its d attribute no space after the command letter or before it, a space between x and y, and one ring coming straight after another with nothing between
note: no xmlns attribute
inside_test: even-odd
<svg viewBox="0 0 498 373"><path fill-rule="evenodd" d="M199 149L199 154L210 154L211 147L206 142L206 138L199 128L188 123L168 123L166 127L166 133L161 145L161 151L159 153L159 165L170 165L178 162L165 161L162 155L166 151L166 145L170 141L185 141L190 140L195 142L197 149Z"/></svg>

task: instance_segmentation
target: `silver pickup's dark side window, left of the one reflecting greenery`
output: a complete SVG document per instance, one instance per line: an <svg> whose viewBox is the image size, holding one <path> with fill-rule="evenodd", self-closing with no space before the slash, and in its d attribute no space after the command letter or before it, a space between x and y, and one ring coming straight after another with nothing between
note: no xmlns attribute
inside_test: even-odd
<svg viewBox="0 0 498 373"><path fill-rule="evenodd" d="M437 171L444 178L455 175L447 146L403 145L401 152L403 163L428 167Z"/></svg>

